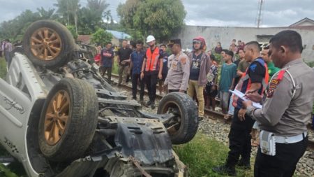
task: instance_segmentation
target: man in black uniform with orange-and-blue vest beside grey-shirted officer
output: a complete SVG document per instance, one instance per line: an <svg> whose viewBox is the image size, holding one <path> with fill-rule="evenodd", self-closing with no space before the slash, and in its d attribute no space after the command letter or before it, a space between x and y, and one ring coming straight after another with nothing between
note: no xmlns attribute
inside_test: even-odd
<svg viewBox="0 0 314 177"><path fill-rule="evenodd" d="M267 87L269 74L267 64L260 57L260 45L256 41L246 43L244 47L246 62L251 63L236 86L242 93L254 90L262 94ZM231 103L230 103L231 104ZM215 167L213 170L218 174L236 176L235 166L238 164L244 169L251 169L251 129L254 124L253 118L246 115L246 108L239 97L233 99L234 115L229 132L229 148L226 164ZM241 155L241 160L239 157ZM239 161L239 162L238 162Z"/></svg>

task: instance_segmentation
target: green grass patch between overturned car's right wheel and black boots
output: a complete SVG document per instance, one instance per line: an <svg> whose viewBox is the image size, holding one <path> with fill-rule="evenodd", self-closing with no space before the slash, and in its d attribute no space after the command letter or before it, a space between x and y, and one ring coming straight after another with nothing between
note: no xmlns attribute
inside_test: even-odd
<svg viewBox="0 0 314 177"><path fill-rule="evenodd" d="M180 160L188 166L189 176L193 177L220 176L211 169L225 162L228 150L223 143L204 134L197 134L189 143L174 146ZM253 171L237 169L237 176L253 176Z"/></svg>

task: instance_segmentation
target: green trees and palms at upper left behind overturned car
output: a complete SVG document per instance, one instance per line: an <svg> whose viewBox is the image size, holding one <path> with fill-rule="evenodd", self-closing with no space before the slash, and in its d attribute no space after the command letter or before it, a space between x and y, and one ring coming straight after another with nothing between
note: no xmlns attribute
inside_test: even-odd
<svg viewBox="0 0 314 177"><path fill-rule="evenodd" d="M86 7L81 7L80 0L57 0L54 6L57 11L43 7L36 12L25 10L13 20L1 22L0 38L9 38L13 43L21 41L27 27L37 20L56 20L70 26L73 34L93 34L96 29L105 28L102 17L109 6L105 0L88 0Z"/></svg>

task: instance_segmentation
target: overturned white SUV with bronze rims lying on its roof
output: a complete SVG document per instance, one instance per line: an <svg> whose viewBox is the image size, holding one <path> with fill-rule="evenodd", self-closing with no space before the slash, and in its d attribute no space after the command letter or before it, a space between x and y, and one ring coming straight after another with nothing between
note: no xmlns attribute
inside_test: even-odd
<svg viewBox="0 0 314 177"><path fill-rule="evenodd" d="M167 94L157 114L116 92L58 22L34 22L0 78L0 143L28 176L188 176L172 144L198 127L195 102Z"/></svg>

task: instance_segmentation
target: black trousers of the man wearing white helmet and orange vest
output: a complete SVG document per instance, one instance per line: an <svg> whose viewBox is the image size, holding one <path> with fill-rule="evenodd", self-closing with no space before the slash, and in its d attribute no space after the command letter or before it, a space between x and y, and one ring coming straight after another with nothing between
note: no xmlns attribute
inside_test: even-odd
<svg viewBox="0 0 314 177"><path fill-rule="evenodd" d="M149 101L155 102L156 99L156 87L157 87L157 79L158 73L155 72L145 72L144 80L147 85L147 90L149 92Z"/></svg>

